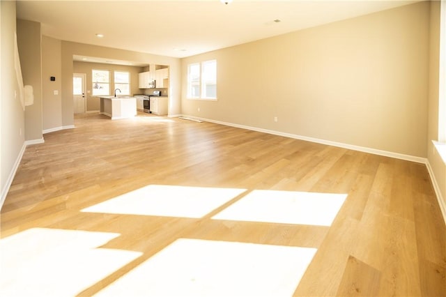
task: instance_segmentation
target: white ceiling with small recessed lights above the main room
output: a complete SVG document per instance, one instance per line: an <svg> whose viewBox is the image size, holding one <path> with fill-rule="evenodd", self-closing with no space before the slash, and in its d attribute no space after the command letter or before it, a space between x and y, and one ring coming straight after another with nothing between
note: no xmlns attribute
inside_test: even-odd
<svg viewBox="0 0 446 297"><path fill-rule="evenodd" d="M18 0L17 18L60 40L181 58L413 2Z"/></svg>

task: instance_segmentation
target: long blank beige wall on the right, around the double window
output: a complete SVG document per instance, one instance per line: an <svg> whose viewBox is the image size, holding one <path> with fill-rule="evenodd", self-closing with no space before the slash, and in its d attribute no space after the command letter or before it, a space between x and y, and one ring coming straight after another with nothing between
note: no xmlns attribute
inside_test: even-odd
<svg viewBox="0 0 446 297"><path fill-rule="evenodd" d="M207 59L218 100L187 100L187 64ZM182 112L426 158L428 66L421 2L185 58Z"/></svg>

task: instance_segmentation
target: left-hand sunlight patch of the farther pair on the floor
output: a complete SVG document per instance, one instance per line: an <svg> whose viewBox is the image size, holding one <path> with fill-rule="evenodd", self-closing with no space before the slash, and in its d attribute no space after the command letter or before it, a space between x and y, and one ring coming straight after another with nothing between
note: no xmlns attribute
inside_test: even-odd
<svg viewBox="0 0 446 297"><path fill-rule="evenodd" d="M202 218L243 192L245 189L147 185L82 211Z"/></svg>

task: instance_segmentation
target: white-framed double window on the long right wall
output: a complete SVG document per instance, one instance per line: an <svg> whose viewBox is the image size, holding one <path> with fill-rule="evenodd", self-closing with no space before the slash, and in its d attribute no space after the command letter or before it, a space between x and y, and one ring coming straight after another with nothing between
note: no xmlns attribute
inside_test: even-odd
<svg viewBox="0 0 446 297"><path fill-rule="evenodd" d="M187 98L217 99L217 60L187 66Z"/></svg>

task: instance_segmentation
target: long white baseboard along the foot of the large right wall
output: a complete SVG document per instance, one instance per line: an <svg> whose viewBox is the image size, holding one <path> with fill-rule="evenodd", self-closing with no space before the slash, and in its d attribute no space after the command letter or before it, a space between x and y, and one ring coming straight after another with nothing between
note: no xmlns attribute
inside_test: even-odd
<svg viewBox="0 0 446 297"><path fill-rule="evenodd" d="M401 159L401 160L412 161L412 162L417 162L417 163L422 163L422 164L427 163L427 158L421 158L421 157L417 157L414 155L404 155L402 153L394 153L391 151L382 151L382 150L379 150L376 148L367 148L364 146L355 146L353 144L332 142L330 140L318 139L318 138L307 137L307 136L302 136L302 135L295 135L295 134L291 134L291 133L284 133L284 132L279 132L279 131L274 131L274 130L267 130L267 129L256 128L256 127L251 127L251 126L247 126L247 125L238 125L238 124L234 124L234 123L214 121L211 119L199 118L197 116L189 116L187 114L182 114L181 116L186 116L188 118L198 119L198 120L206 121L206 122L210 122L210 123L217 123L220 125L229 125L231 127L236 127L236 128L242 128L242 129L253 130L253 131L257 131L257 132L264 132L264 133L273 134L273 135L279 135L279 136L284 136L284 137L289 137L289 138L294 138L294 139L305 140L307 142L316 142L318 144L326 144L329 146L337 146L340 148L347 148L347 149L351 149L353 151L362 151L364 153L372 153L374 155L383 155L385 157L397 158L397 159Z"/></svg>

